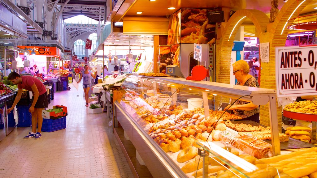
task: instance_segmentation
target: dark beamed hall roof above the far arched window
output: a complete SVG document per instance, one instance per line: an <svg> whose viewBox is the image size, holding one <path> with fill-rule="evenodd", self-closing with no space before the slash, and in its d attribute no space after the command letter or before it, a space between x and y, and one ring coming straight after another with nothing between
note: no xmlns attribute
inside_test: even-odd
<svg viewBox="0 0 317 178"><path fill-rule="evenodd" d="M65 5L63 9L63 19L84 15L96 21L104 20L107 0L52 0L58 1L59 5Z"/></svg>

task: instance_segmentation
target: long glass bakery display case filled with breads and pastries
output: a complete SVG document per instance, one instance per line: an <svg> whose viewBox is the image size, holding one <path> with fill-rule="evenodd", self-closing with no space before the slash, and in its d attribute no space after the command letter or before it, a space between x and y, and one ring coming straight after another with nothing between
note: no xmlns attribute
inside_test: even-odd
<svg viewBox="0 0 317 178"><path fill-rule="evenodd" d="M256 159L280 154L275 90L140 75L130 75L121 87L125 94L114 103L114 127L122 126L153 177L280 174ZM218 111L230 98L269 105L272 144L226 126L241 119Z"/></svg>

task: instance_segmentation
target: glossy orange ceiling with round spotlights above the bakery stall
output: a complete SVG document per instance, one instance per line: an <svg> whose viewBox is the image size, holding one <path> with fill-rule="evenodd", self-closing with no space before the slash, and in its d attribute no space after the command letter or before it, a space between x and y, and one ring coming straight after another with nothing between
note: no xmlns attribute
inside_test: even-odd
<svg viewBox="0 0 317 178"><path fill-rule="evenodd" d="M125 0L120 9L113 18L119 21L123 16L137 16L137 11L142 11L141 16L166 16L171 15L180 8L206 8L227 7L230 10L257 9L269 14L272 0ZM125 4L126 3L126 4ZM132 4L131 7L127 7ZM278 8L281 9L285 3L278 0ZM175 10L168 10L169 7L175 7ZM316 13L317 2L313 1L300 14Z"/></svg>

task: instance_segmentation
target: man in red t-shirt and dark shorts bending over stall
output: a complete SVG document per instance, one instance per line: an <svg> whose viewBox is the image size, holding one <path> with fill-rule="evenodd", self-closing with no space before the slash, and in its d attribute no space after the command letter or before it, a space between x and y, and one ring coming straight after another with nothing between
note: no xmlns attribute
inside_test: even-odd
<svg viewBox="0 0 317 178"><path fill-rule="evenodd" d="M25 75L20 76L16 72L11 72L8 76L13 84L18 85L18 92L14 99L13 105L7 109L8 114L14 110L16 104L20 101L23 89L29 90L33 93L32 105L30 106L29 112L32 114L32 132L24 138L40 139L42 137L41 129L43 124L42 110L43 108L49 107L48 95L46 88L43 83L36 77ZM38 126L36 132L36 124Z"/></svg>

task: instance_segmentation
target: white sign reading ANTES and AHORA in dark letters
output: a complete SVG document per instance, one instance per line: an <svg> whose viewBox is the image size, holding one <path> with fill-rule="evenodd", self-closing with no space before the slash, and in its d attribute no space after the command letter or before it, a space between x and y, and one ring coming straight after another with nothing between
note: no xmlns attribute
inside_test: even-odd
<svg viewBox="0 0 317 178"><path fill-rule="evenodd" d="M275 55L278 97L316 94L317 47L278 47Z"/></svg>

